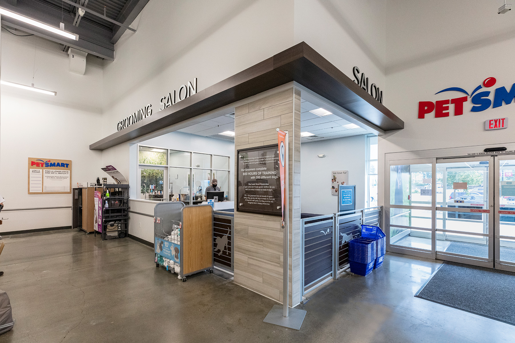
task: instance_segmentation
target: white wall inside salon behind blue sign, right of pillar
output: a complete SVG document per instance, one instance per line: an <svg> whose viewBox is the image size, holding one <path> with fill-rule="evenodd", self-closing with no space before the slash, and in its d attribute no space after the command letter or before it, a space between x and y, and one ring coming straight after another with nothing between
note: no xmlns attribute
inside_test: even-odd
<svg viewBox="0 0 515 343"><path fill-rule="evenodd" d="M333 170L348 170L349 185L356 185L356 209L365 207L367 136L351 136L302 143L301 211L331 214L338 211L338 196L331 194ZM324 158L317 155L325 154Z"/></svg>

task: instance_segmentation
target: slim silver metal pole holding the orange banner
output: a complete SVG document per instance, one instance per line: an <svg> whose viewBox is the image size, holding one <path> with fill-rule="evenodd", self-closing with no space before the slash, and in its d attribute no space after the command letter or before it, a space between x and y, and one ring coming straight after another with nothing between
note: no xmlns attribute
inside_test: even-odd
<svg viewBox="0 0 515 343"><path fill-rule="evenodd" d="M286 200L286 208L284 211L284 240L283 240L283 316L288 316L288 266L289 266L289 145L288 145L288 131L285 131L286 137L284 147L284 197Z"/></svg>

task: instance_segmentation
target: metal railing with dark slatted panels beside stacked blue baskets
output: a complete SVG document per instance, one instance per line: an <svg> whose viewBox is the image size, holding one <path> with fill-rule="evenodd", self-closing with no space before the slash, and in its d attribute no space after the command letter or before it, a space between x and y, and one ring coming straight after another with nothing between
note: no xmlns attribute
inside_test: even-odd
<svg viewBox="0 0 515 343"><path fill-rule="evenodd" d="M381 227L383 206L367 207L301 220L302 295L349 268L349 241L361 225Z"/></svg>

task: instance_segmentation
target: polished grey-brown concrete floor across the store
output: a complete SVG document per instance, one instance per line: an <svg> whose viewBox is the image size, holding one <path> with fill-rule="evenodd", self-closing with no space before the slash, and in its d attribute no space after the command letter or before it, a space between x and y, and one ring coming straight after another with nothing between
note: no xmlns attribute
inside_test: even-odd
<svg viewBox="0 0 515 343"><path fill-rule="evenodd" d="M392 254L366 278L343 276L299 306L296 331L263 322L272 300L216 273L181 282L131 239L61 230L4 242L0 288L16 323L0 342L515 340L515 326L414 297L437 261Z"/></svg>

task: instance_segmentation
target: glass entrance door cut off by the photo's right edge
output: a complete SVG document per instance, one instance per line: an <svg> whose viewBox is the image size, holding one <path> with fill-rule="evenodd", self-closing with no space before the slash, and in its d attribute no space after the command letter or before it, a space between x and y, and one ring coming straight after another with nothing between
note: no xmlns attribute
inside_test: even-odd
<svg viewBox="0 0 515 343"><path fill-rule="evenodd" d="M515 155L495 156L495 268L515 272Z"/></svg>

